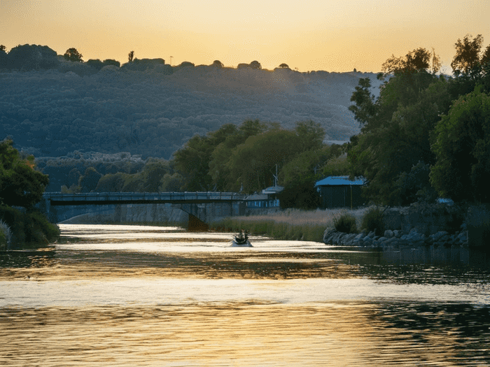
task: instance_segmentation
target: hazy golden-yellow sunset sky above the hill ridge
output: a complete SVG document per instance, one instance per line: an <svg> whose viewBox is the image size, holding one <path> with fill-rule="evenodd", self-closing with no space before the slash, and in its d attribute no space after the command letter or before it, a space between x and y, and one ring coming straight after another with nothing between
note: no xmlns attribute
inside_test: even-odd
<svg viewBox="0 0 490 367"><path fill-rule="evenodd" d="M83 59L135 57L274 69L380 71L423 47L449 65L454 43L490 43L488 0L0 0L0 44L48 45ZM447 69L450 71L450 69Z"/></svg>

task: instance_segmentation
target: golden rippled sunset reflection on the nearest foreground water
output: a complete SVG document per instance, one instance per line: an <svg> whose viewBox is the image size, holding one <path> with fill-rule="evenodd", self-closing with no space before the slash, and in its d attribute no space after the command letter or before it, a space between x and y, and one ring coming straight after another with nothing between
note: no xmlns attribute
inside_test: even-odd
<svg viewBox="0 0 490 367"><path fill-rule="evenodd" d="M8 366L387 366L435 364L451 336L417 343L374 305L223 303L3 309ZM423 331L419 331L423 333ZM408 363L409 361L409 363ZM438 363L440 362L440 364Z"/></svg>

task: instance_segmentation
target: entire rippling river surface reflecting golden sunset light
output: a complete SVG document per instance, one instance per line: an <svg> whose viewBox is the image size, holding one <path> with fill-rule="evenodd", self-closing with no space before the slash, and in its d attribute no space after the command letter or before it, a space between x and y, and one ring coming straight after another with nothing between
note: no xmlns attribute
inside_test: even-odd
<svg viewBox="0 0 490 367"><path fill-rule="evenodd" d="M490 366L490 255L61 224L0 254L0 365Z"/></svg>

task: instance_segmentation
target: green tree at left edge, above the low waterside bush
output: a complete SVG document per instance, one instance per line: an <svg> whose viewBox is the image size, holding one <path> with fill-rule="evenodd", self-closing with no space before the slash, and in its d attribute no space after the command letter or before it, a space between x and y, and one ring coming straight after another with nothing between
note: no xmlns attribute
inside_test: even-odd
<svg viewBox="0 0 490 367"><path fill-rule="evenodd" d="M0 143L0 201L8 206L32 208L41 201L48 176L34 169L34 156L21 159L13 141Z"/></svg>

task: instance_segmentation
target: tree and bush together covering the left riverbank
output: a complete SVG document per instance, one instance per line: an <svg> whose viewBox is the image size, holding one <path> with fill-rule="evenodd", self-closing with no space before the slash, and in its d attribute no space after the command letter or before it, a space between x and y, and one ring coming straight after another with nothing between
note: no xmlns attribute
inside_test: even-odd
<svg viewBox="0 0 490 367"><path fill-rule="evenodd" d="M0 250L45 245L59 236L57 226L34 208L48 176L36 171L34 157L22 157L12 145L8 139L0 143Z"/></svg>

